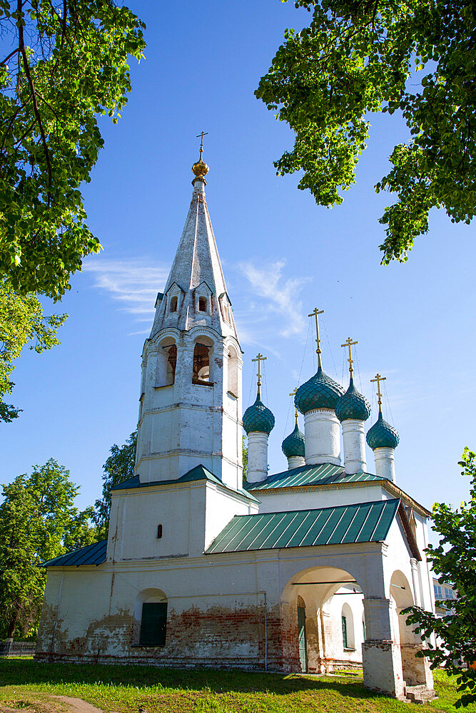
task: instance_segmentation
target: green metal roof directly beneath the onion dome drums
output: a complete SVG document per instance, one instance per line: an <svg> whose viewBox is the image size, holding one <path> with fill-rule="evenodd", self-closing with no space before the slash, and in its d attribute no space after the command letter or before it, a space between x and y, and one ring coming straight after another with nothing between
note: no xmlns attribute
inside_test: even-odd
<svg viewBox="0 0 476 713"><path fill-rule="evenodd" d="M248 491L270 490L271 488L296 488L298 486L323 486L330 483L356 483L357 481L381 481L385 478L372 473L345 473L342 466L320 463L318 466L300 466L290 471L275 473L260 483L245 483Z"/></svg>

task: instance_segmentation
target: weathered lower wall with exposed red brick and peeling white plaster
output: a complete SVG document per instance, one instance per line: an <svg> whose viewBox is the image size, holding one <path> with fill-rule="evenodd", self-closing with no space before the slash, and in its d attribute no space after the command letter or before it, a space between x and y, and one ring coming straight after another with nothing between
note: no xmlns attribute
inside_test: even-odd
<svg viewBox="0 0 476 713"><path fill-rule="evenodd" d="M161 666L213 666L263 670L265 610L212 606L168 612L166 645L138 646L140 622L118 612L90 622L81 637L70 637L56 610L45 609L36 657L39 660L144 662ZM268 670L300 671L297 617L267 612Z"/></svg>

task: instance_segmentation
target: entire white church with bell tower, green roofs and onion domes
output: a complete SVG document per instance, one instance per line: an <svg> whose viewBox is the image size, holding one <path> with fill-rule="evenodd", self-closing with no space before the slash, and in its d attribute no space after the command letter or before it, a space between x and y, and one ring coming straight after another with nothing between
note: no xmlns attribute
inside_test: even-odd
<svg viewBox="0 0 476 713"><path fill-rule="evenodd" d="M268 474L274 416L259 376L242 416L242 352L207 171L201 155L143 349L136 475L113 488L107 541L45 563L36 658L311 673L363 666L371 689L431 692L427 660L415 657L422 640L400 615L412 604L434 608L423 551L430 513L395 482L397 432L379 396L369 472L370 406L353 384L351 352L348 389L325 374L315 310L318 371L295 394L305 433L296 411L283 441L288 468Z"/></svg>

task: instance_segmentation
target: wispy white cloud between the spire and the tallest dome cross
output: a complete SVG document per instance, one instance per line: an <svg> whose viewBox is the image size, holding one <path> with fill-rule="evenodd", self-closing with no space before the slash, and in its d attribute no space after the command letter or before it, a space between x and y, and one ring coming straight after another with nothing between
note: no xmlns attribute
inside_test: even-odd
<svg viewBox="0 0 476 713"><path fill-rule="evenodd" d="M251 292L247 291L246 332L255 331L250 322L255 322L255 326L258 326L260 322L269 322L273 314L278 317L278 329L275 329L276 322L273 320L273 332L277 331L281 337L293 337L305 330L303 302L299 295L309 278L286 277L285 265L285 260L259 266L251 260L239 263L238 270L248 280L251 288Z"/></svg>

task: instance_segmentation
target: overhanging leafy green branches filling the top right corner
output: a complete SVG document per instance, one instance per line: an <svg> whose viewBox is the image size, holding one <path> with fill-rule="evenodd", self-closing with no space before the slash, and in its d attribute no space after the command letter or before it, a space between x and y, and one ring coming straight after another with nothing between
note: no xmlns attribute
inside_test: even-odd
<svg viewBox="0 0 476 713"><path fill-rule="evenodd" d="M303 170L298 188L319 205L343 200L355 181L371 113L399 111L410 131L375 189L398 200L385 209L382 262L407 259L428 213L443 207L469 223L476 205L476 6L470 0L297 0L312 12L285 31L255 92L295 132L275 162ZM412 68L422 71L420 83ZM412 82L408 80L412 76Z"/></svg>

